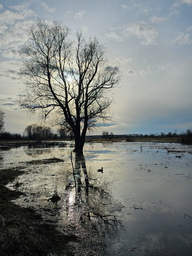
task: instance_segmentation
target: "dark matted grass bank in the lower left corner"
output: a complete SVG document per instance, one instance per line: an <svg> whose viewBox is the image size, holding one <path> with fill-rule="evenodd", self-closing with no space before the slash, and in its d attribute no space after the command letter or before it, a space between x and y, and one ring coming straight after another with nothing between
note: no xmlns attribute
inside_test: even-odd
<svg viewBox="0 0 192 256"><path fill-rule="evenodd" d="M59 232L32 208L23 208L11 201L23 193L9 190L5 185L22 172L21 167L0 170L0 255L44 256L63 251L69 241L77 241L75 236Z"/></svg>

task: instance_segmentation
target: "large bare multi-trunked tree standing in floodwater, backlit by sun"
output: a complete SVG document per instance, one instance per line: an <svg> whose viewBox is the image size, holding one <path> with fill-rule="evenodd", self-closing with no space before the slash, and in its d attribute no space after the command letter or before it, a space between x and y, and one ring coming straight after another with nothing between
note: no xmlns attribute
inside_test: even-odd
<svg viewBox="0 0 192 256"><path fill-rule="evenodd" d="M70 40L70 29L60 21L38 19L27 32L20 55L20 106L41 110L45 118L54 112L73 131L74 151L82 152L87 130L111 119L113 88L122 73L108 66L106 48L96 37L86 40L78 30Z"/></svg>

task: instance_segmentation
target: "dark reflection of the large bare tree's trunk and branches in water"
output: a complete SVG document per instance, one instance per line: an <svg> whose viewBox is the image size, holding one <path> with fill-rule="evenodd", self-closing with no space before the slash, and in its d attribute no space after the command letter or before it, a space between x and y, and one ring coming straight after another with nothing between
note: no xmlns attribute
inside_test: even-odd
<svg viewBox="0 0 192 256"><path fill-rule="evenodd" d="M73 192L75 182L72 175L76 180L76 196ZM65 188L68 221L75 220L76 225L80 224L89 236L97 236L100 239L115 235L118 230L123 229L118 214L122 207L111 196L110 186L111 183L105 179L98 179L87 173L84 156L76 154L74 173Z"/></svg>

